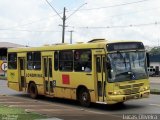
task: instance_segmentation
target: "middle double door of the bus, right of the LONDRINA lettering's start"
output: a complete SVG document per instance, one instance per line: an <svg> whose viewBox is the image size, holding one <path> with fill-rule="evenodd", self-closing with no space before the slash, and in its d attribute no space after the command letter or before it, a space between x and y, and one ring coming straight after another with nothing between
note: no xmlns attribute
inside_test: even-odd
<svg viewBox="0 0 160 120"><path fill-rule="evenodd" d="M52 81L52 57L43 57L44 67L44 88L46 95L53 95Z"/></svg>

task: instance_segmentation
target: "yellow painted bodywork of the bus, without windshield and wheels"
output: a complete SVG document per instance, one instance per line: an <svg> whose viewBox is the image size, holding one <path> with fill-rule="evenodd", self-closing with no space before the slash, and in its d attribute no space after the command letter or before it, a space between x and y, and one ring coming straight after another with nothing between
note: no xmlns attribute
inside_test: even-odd
<svg viewBox="0 0 160 120"><path fill-rule="evenodd" d="M9 49L8 54L17 53L17 69L8 69L8 87L17 91L28 92L29 84L34 82L40 95L74 100L77 99L78 88L85 87L89 91L91 102L105 104L148 97L150 93L148 79L108 82L107 68L105 68L108 54L106 44L107 42L99 42ZM55 70L55 52L71 50L74 53L76 50L86 49L91 50L92 70L90 72L84 70L78 72L74 69L72 71ZM32 66L33 68L30 69L27 68L30 62L28 54L33 53L34 55L34 52L40 52L41 54L41 61L38 61L40 62L40 68L34 69L34 66ZM74 59L73 57L73 61ZM21 68L22 64L24 70ZM100 66L99 72L97 71L97 64ZM22 82L24 83L22 84Z"/></svg>

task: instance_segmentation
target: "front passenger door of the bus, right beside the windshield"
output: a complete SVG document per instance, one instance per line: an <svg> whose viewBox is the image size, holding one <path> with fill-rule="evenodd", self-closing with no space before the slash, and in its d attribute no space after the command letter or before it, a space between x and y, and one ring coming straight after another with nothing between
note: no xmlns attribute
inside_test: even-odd
<svg viewBox="0 0 160 120"><path fill-rule="evenodd" d="M96 73L98 102L106 102L106 76L104 55L98 55L96 57Z"/></svg>

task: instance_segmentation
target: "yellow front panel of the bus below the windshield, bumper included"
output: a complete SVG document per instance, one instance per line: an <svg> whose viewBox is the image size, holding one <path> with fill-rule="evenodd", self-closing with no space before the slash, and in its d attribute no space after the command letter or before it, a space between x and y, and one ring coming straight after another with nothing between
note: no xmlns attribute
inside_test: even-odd
<svg viewBox="0 0 160 120"><path fill-rule="evenodd" d="M117 83L108 83L107 103L114 104L130 99L148 98L150 94L149 80L135 80ZM114 94L114 92L116 94ZM113 94L111 94L113 93Z"/></svg>

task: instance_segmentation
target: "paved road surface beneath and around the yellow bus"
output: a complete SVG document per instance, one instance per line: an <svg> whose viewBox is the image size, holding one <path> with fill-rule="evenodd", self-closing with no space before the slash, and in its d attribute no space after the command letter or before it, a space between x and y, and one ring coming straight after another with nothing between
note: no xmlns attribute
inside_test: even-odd
<svg viewBox="0 0 160 120"><path fill-rule="evenodd" d="M76 101L41 97L33 100L27 94L10 90L6 81L0 80L0 103L12 107L22 107L26 110L46 114L50 117L64 120L121 120L126 114L160 114L160 96L150 95L150 98L130 100L122 106L92 104L90 108L81 107ZM160 117L159 117L160 118Z"/></svg>

